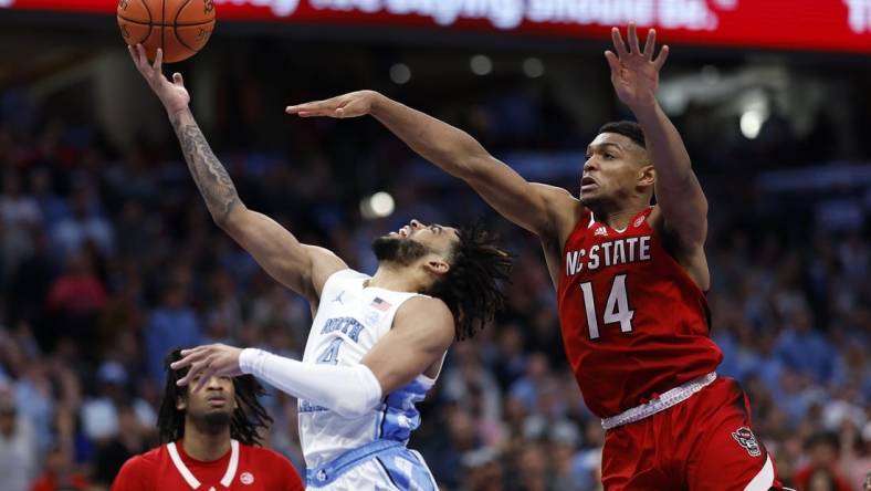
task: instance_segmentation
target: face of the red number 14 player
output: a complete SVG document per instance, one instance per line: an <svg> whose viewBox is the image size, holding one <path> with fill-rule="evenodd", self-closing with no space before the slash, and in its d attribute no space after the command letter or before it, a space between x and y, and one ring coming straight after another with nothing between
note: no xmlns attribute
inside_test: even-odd
<svg viewBox="0 0 871 491"><path fill-rule="evenodd" d="M647 165L643 148L627 136L602 133L587 147L580 200L587 205L620 201L636 192Z"/></svg>

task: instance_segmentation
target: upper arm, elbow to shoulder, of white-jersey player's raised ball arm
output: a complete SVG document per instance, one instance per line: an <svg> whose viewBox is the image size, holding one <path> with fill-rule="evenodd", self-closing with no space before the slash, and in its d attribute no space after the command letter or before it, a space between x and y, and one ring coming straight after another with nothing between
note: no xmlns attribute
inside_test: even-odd
<svg viewBox="0 0 871 491"><path fill-rule="evenodd" d="M244 207L233 210L221 228L272 278L313 302L327 278L347 268L332 251L300 243L275 220Z"/></svg>

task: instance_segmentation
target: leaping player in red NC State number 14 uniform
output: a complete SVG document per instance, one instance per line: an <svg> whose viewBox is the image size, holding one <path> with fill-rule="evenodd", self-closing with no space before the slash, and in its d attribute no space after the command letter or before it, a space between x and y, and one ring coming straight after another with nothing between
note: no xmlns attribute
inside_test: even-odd
<svg viewBox="0 0 871 491"><path fill-rule="evenodd" d="M618 29L612 36L611 81L640 124L602 127L579 198L527 182L464 132L370 91L287 113L371 114L541 238L569 364L607 429L607 491L779 489L744 391L715 373L723 355L709 336L707 200L655 97L669 49L654 58L651 30L642 50L631 24L628 45Z"/></svg>

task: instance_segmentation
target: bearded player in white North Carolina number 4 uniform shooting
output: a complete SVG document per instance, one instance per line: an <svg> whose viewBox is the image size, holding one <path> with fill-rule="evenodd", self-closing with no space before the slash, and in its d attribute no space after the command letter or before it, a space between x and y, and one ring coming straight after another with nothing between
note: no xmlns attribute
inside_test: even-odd
<svg viewBox="0 0 871 491"><path fill-rule="evenodd" d="M420 455L406 448L419 425L414 404L436 382L454 338L483 327L501 306L511 258L480 228L411 222L372 243L378 270L348 269L333 252L300 243L249 210L188 108L181 75L161 73L130 46L139 72L167 109L188 168L214 222L315 312L302 362L225 345L182 352L179 385L253 374L300 399L307 487L433 490Z"/></svg>

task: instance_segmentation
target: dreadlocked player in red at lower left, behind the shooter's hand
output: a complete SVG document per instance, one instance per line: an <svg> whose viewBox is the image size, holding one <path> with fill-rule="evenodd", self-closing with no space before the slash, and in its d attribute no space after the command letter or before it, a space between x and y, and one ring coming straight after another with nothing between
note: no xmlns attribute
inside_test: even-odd
<svg viewBox="0 0 871 491"><path fill-rule="evenodd" d="M112 491L302 491L300 474L286 458L261 448L258 430L272 418L258 401L263 387L252 375L211 377L201 390L176 383L187 369L169 364L157 426L166 442L130 458Z"/></svg>

